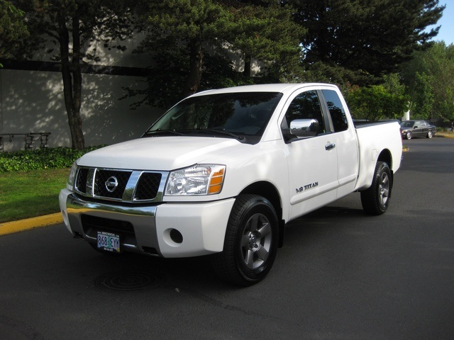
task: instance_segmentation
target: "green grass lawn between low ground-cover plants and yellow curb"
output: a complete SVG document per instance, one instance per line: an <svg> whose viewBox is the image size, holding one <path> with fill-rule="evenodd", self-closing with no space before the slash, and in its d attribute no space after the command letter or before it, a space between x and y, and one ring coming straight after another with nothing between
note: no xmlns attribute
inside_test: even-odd
<svg viewBox="0 0 454 340"><path fill-rule="evenodd" d="M58 193L70 169L0 174L0 223L59 212Z"/></svg>

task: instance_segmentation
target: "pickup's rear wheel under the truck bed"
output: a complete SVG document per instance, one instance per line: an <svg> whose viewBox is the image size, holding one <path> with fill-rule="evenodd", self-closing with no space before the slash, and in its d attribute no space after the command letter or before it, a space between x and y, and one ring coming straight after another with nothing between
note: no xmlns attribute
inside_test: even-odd
<svg viewBox="0 0 454 340"><path fill-rule="evenodd" d="M382 215L388 209L391 191L391 170L386 162L377 162L372 185L361 191L362 209L370 215Z"/></svg>

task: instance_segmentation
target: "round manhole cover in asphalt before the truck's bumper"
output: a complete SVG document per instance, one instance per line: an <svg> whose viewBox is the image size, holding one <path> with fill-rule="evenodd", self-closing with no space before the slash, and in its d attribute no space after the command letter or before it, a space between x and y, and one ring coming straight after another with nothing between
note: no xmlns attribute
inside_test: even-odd
<svg viewBox="0 0 454 340"><path fill-rule="evenodd" d="M146 271L116 271L94 280L96 286L112 290L139 290L155 286L158 282L157 275Z"/></svg>

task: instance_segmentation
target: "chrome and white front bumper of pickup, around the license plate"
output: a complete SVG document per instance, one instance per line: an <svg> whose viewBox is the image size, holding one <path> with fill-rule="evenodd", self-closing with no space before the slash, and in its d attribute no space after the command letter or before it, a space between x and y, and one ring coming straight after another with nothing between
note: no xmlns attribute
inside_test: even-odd
<svg viewBox="0 0 454 340"><path fill-rule="evenodd" d="M124 251L163 257L189 257L223 250L235 198L213 202L116 205L84 200L60 191L67 229L96 245L98 232L121 237Z"/></svg>

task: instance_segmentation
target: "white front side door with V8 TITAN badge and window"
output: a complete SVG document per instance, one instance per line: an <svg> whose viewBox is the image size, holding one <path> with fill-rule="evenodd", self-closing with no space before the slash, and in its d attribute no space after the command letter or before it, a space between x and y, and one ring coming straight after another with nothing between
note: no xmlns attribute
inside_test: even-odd
<svg viewBox="0 0 454 340"><path fill-rule="evenodd" d="M319 122L312 137L292 137L287 140L285 154L289 168L289 218L320 208L336 200L338 188L338 159L328 119L323 113L319 93L295 93L284 108L281 123L284 135L292 120L310 119Z"/></svg>

